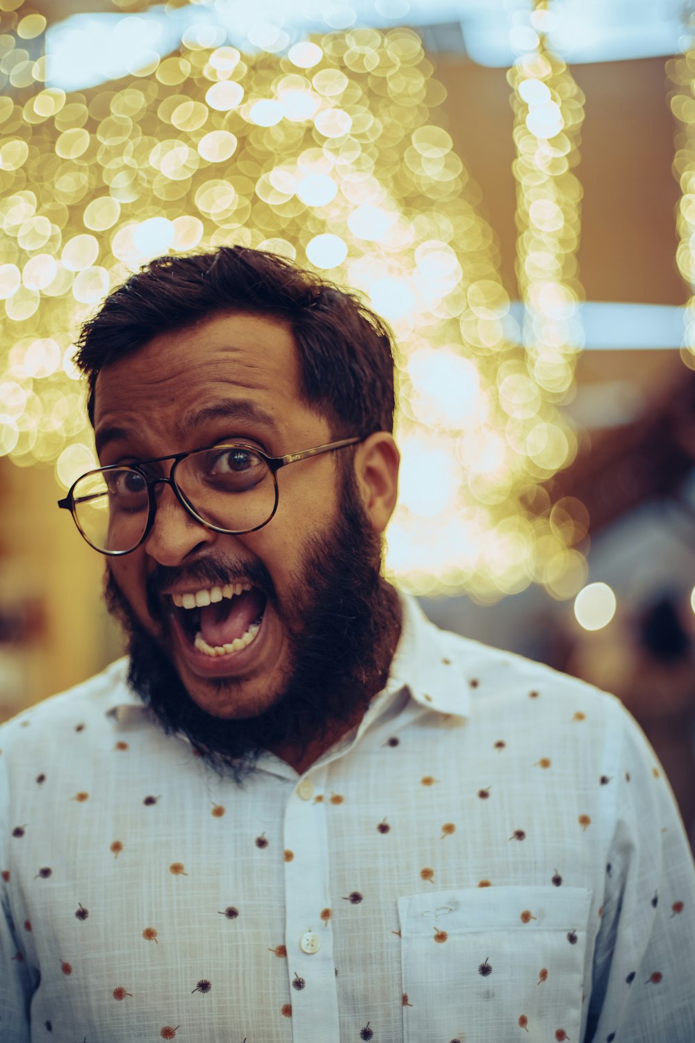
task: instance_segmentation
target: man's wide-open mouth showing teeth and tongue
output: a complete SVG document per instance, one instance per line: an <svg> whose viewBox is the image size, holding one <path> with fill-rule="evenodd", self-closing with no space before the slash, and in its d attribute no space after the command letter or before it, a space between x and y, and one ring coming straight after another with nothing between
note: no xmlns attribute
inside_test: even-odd
<svg viewBox="0 0 695 1043"><path fill-rule="evenodd" d="M250 583L226 583L172 593L179 629L203 655L241 652L255 638L266 610L266 596Z"/></svg>

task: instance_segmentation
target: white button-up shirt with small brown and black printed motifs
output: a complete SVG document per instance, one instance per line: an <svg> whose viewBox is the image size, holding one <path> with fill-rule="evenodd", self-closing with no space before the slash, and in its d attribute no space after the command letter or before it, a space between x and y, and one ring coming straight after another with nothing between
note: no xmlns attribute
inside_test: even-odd
<svg viewBox="0 0 695 1043"><path fill-rule="evenodd" d="M302 776L220 778L124 660L0 729L0 1039L695 1040L692 859L638 727L404 613Z"/></svg>

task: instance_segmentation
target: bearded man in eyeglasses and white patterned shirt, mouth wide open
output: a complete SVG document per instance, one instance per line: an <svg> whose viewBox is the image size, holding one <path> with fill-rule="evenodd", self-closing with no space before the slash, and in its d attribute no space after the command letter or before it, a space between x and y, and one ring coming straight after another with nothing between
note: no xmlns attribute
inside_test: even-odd
<svg viewBox="0 0 695 1043"><path fill-rule="evenodd" d="M267 253L133 275L60 506L129 658L2 729L3 1040L692 1043L692 863L617 701L380 576L388 332Z"/></svg>

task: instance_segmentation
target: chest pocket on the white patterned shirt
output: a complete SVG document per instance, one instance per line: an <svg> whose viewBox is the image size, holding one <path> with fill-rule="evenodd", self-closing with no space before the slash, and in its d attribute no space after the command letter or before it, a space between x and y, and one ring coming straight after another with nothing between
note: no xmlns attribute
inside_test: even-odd
<svg viewBox="0 0 695 1043"><path fill-rule="evenodd" d="M405 1043L579 1043L591 898L565 887L399 898Z"/></svg>

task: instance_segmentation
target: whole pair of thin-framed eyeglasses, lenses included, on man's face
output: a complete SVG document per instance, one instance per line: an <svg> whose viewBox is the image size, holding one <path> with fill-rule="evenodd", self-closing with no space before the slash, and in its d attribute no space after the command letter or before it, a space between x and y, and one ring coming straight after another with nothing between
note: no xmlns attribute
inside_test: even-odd
<svg viewBox="0 0 695 1043"><path fill-rule="evenodd" d="M223 442L171 456L89 470L58 507L72 512L79 532L100 554L129 554L147 538L157 508L156 485L170 485L181 507L214 532L241 536L268 525L277 510L277 471L321 453L363 441L342 438L301 453L269 457L244 442ZM169 477L151 464L172 460Z"/></svg>

